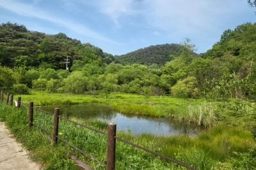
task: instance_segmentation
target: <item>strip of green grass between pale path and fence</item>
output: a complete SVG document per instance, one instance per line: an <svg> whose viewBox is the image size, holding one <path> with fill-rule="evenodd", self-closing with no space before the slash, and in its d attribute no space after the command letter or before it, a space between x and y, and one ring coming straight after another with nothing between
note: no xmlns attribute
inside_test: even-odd
<svg viewBox="0 0 256 170"><path fill-rule="evenodd" d="M0 120L12 132L16 140L29 151L30 157L42 164L45 169L77 169L65 152L66 146L53 147L38 128L28 127L28 109L10 107L0 102Z"/></svg>

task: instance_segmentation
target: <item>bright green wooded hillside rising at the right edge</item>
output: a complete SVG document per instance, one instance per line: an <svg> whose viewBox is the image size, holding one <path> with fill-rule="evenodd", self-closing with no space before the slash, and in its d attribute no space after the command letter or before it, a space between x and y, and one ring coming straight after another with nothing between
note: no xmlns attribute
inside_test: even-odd
<svg viewBox="0 0 256 170"><path fill-rule="evenodd" d="M255 75L255 55L256 23L242 24L233 31L228 29L223 32L220 41L203 55L204 61L209 61L211 65L211 73L205 78L220 79L232 75L232 79L241 80Z"/></svg>

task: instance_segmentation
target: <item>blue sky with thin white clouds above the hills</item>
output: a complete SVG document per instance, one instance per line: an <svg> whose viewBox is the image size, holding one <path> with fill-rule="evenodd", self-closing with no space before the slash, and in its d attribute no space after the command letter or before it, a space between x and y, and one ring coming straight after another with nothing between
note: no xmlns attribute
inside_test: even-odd
<svg viewBox="0 0 256 170"><path fill-rule="evenodd" d="M256 22L247 0L0 0L0 22L89 42L113 55L191 39L206 52L223 31Z"/></svg>

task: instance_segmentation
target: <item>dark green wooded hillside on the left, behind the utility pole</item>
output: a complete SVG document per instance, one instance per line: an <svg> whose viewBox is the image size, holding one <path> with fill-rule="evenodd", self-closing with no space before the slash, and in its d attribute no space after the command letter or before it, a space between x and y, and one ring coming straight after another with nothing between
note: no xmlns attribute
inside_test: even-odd
<svg viewBox="0 0 256 170"><path fill-rule="evenodd" d="M29 31L26 26L7 22L0 25L0 63L2 66L41 66L65 68L65 59L70 65L75 59L86 62L111 63L113 55L90 43L68 38L64 33L46 35Z"/></svg>

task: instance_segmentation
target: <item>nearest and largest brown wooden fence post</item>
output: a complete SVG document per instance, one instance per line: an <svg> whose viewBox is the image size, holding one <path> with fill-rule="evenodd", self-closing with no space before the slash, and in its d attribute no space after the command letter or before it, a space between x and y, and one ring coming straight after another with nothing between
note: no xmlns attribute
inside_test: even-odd
<svg viewBox="0 0 256 170"><path fill-rule="evenodd" d="M116 124L108 123L108 152L107 152L107 170L115 169L116 155Z"/></svg>

